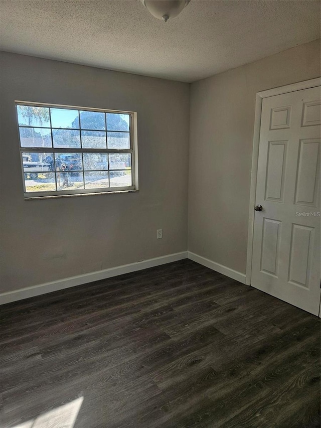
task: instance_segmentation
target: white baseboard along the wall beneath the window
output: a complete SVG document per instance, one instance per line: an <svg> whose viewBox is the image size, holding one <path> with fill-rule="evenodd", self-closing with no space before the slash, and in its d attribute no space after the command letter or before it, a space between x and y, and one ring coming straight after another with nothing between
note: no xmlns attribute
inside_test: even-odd
<svg viewBox="0 0 321 428"><path fill-rule="evenodd" d="M137 270L147 269L148 267L171 263L172 261L187 258L187 254L187 251L182 251L179 253L137 261L136 263L123 264L122 266L110 267L109 269L97 270L96 272L58 279L57 281L46 282L44 284L38 284L37 286L27 287L13 292L3 293L0 294L0 305L27 299L29 297L40 296L42 294L58 290L68 289L70 287L80 286L87 282L98 281L99 279L106 279L112 276L122 275L123 273L135 272Z"/></svg>

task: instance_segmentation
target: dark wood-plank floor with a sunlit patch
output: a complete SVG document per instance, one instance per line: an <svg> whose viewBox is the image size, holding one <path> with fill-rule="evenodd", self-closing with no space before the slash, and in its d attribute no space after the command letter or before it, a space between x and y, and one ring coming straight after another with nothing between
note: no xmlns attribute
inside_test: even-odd
<svg viewBox="0 0 321 428"><path fill-rule="evenodd" d="M1 428L320 426L320 320L191 260L0 314Z"/></svg>

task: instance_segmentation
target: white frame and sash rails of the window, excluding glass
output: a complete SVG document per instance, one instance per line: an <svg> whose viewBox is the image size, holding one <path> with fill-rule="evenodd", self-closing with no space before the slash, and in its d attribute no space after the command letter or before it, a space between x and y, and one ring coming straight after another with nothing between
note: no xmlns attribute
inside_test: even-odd
<svg viewBox="0 0 321 428"><path fill-rule="evenodd" d="M52 107L52 108L62 108L70 110L86 110L102 113L120 113L129 115L129 149L75 149L75 148L55 148L55 147L22 147L20 141L20 131L19 131L19 120L17 105L26 105L26 106L36 106L36 107ZM20 162L22 169L22 179L23 179L23 188L24 188L24 198L28 199L51 199L51 198L65 198L65 197L74 197L74 196L88 196L88 195L104 195L109 193L129 193L138 191L138 148L137 148L137 113L135 111L123 111L123 110L110 110L110 109L101 109L101 108L92 108L92 107L81 107L81 106L71 106L63 104L47 104L39 102L30 102L30 101L19 101L15 100L15 109L16 109L16 120L18 126L18 138L19 138L19 147L20 147ZM24 126L25 127L25 126ZM35 126L30 126L35 127ZM36 126L37 127L37 126ZM49 127L44 127L49 129ZM54 127L50 126L52 133ZM86 129L83 129L86 130ZM107 133L107 128L106 128ZM81 124L79 123L79 132L81 134ZM117 131L115 131L117 132ZM53 138L52 138L53 141ZM47 192L27 192L25 186L25 171L23 165L22 154L28 152L40 152L40 153L130 153L131 154L131 186L125 187L104 187L96 189L67 189L67 190L54 190ZM108 171L112 171L109 170ZM57 171L55 171L56 173Z"/></svg>

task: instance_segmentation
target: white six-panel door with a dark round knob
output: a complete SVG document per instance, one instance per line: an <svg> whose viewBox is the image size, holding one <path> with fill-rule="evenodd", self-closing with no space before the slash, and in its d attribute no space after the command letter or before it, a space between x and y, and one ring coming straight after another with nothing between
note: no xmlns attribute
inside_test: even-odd
<svg viewBox="0 0 321 428"><path fill-rule="evenodd" d="M320 87L264 98L251 285L314 315L321 277L319 162Z"/></svg>

